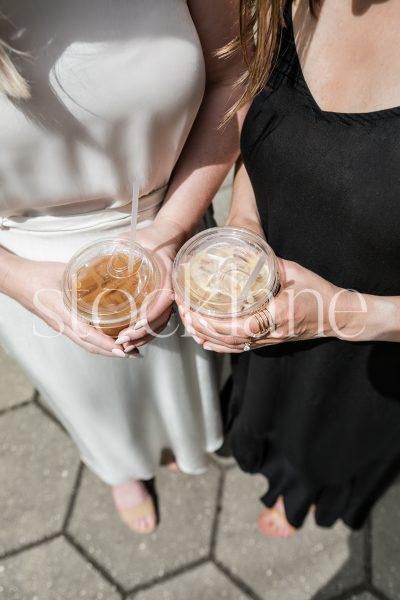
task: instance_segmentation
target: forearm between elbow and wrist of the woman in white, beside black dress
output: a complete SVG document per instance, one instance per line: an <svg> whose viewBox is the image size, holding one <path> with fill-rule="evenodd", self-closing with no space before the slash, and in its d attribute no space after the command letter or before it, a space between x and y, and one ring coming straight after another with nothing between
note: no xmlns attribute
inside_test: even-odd
<svg viewBox="0 0 400 600"><path fill-rule="evenodd" d="M192 235L238 157L244 111L219 128L234 99L231 85L213 84L207 88L157 215L156 223L179 226L182 241Z"/></svg>

